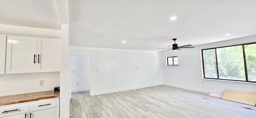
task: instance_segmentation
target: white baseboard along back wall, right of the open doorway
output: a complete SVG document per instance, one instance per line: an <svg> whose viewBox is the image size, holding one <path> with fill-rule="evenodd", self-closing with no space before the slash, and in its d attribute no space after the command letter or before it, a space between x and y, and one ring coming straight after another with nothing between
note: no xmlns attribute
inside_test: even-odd
<svg viewBox="0 0 256 118"><path fill-rule="evenodd" d="M91 91L90 95L94 96L94 95L99 95L99 94L120 92L120 91L125 91L125 90L133 90L133 89L138 89L138 88L153 87L153 86L158 86L158 85L163 85L163 83L157 83L157 84L152 84L152 85L142 85L142 86L136 86L136 87L119 88L119 89L113 89L113 90L102 90L102 91L98 91L98 92Z"/></svg>

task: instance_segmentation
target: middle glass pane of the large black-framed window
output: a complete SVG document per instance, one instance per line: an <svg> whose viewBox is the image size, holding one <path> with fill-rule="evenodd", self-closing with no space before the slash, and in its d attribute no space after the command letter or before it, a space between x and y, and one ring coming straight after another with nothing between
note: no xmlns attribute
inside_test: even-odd
<svg viewBox="0 0 256 118"><path fill-rule="evenodd" d="M242 45L217 48L220 79L246 81Z"/></svg>

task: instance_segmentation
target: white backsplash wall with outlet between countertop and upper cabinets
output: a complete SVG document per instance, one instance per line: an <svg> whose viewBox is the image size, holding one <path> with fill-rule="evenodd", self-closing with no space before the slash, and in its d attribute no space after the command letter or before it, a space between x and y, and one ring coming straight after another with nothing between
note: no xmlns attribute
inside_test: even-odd
<svg viewBox="0 0 256 118"><path fill-rule="evenodd" d="M44 80L44 86L39 81ZM0 75L0 96L54 90L60 86L60 72Z"/></svg>

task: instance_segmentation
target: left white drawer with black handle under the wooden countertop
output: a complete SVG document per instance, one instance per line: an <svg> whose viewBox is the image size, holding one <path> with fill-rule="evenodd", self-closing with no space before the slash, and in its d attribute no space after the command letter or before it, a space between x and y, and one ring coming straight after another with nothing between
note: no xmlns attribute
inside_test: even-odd
<svg viewBox="0 0 256 118"><path fill-rule="evenodd" d="M16 104L0 107L0 118L28 112L28 104Z"/></svg>

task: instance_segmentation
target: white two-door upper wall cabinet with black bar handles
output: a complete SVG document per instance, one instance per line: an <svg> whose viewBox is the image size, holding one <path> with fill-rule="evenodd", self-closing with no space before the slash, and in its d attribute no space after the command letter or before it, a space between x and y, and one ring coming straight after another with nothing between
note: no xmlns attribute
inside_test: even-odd
<svg viewBox="0 0 256 118"><path fill-rule="evenodd" d="M60 71L60 40L7 36L5 73Z"/></svg>

